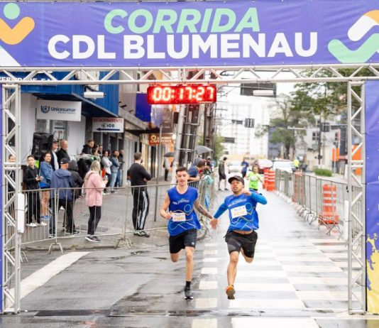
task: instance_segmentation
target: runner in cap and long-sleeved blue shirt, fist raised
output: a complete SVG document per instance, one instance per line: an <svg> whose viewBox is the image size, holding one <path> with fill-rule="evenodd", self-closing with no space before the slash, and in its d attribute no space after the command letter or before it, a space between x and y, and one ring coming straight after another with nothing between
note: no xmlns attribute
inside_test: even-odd
<svg viewBox="0 0 379 328"><path fill-rule="evenodd" d="M234 280L236 280L239 252L241 251L247 263L253 262L258 239L256 230L259 228L256 206L257 203L267 204L267 200L258 192L245 188L243 177L235 175L234 177L229 177L228 182L231 185L233 195L225 198L224 203L217 209L210 224L213 229L216 229L221 214L226 210L229 211L230 225L225 241L228 244L230 258L227 272L228 287L225 291L228 299L234 300L234 294L236 293Z"/></svg>

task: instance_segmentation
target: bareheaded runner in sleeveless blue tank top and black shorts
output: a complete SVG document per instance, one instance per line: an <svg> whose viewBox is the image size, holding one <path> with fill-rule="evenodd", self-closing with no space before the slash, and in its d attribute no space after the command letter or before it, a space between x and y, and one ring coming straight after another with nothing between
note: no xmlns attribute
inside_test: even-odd
<svg viewBox="0 0 379 328"><path fill-rule="evenodd" d="M167 229L170 234L170 256L172 262L177 262L182 249L185 249L185 299L192 300L191 280L194 270L194 248L196 246L197 230L200 229L197 220L197 209L200 214L213 219L207 209L199 204L197 188L188 186L187 168L176 170L177 185L169 190L165 197L160 215L168 220ZM169 212L167 212L167 209Z"/></svg>

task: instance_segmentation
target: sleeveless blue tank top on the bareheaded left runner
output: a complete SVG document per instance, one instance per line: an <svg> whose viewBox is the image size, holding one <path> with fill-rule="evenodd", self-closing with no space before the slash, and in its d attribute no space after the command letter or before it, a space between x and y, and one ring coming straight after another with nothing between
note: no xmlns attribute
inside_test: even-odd
<svg viewBox="0 0 379 328"><path fill-rule="evenodd" d="M167 228L170 236L177 236L191 229L200 229L197 215L194 212L194 202L197 199L197 189L188 187L187 192L180 194L176 187L167 190L170 198L169 211L172 217L168 221Z"/></svg>

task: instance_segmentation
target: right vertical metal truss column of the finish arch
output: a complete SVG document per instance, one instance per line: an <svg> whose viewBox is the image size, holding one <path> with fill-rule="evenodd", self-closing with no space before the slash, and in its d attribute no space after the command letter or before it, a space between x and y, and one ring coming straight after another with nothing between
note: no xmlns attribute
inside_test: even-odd
<svg viewBox="0 0 379 328"><path fill-rule="evenodd" d="M354 90L355 88L356 90ZM365 83L348 82L348 310L366 312L366 168L365 155ZM358 93L357 93L358 91ZM358 109L353 106L358 102ZM358 122L358 124L357 124ZM352 148L353 137L358 145ZM361 151L361 160L353 156ZM361 176L356 171L361 171ZM358 185L360 192L353 192ZM355 264L356 266L353 266ZM357 268L358 270L353 270ZM356 305L358 303L358 305Z"/></svg>

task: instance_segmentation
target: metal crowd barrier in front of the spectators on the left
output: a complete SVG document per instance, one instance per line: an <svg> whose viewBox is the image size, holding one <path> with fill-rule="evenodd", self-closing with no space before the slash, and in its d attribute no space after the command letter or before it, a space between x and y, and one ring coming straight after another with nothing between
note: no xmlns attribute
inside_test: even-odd
<svg viewBox="0 0 379 328"><path fill-rule="evenodd" d="M199 190L199 202L209 207L214 199L214 179L203 179L190 182ZM141 238L133 224L133 207L140 218L139 229L149 234L151 239L167 238L167 221L162 219L159 210L165 199L170 184L147 185L145 187L118 187L114 192L99 190L97 197L102 197L101 219L94 233L101 239L103 236L114 236L115 247L125 242L131 247L131 240ZM21 246L38 244L42 241L59 241L66 238L84 238L89 234L89 207L85 195L93 188L60 188L56 190L24 190L25 230L21 234ZM77 195L71 199L70 195ZM97 217L94 208L94 217ZM9 209L13 212L13 209ZM14 214L12 214L14 215ZM207 229L202 217L202 229ZM138 221L138 220L137 220ZM61 251L62 247L60 246ZM50 250L51 251L51 247Z"/></svg>

